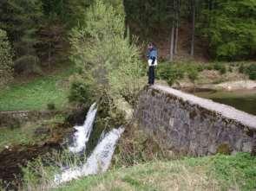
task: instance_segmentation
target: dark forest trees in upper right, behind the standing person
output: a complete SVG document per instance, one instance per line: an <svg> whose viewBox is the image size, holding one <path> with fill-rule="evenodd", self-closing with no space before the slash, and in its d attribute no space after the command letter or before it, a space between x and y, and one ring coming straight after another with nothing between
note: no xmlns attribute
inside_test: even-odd
<svg viewBox="0 0 256 191"><path fill-rule="evenodd" d="M218 60L251 59L256 54L256 1L252 0L124 0L128 24L150 41L155 29L167 31L170 60L177 54L181 23L190 26L190 54L197 38L208 43ZM164 31L165 30L165 31ZM154 35L153 35L154 36ZM146 38L145 38L146 37Z"/></svg>

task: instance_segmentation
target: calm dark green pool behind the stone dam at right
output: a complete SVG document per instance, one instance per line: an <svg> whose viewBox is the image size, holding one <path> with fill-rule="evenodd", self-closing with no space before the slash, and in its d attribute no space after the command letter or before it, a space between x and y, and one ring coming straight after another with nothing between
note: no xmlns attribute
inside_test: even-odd
<svg viewBox="0 0 256 191"><path fill-rule="evenodd" d="M238 110L256 115L256 90L240 90L232 92L195 92L201 98L212 99L225 105L231 105Z"/></svg>

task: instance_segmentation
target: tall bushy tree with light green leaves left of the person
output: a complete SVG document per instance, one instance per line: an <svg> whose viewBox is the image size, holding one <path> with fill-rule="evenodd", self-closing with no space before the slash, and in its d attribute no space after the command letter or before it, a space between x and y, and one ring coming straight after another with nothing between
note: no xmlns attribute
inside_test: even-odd
<svg viewBox="0 0 256 191"><path fill-rule="evenodd" d="M124 36L124 13L102 0L89 8L85 26L71 35L72 55L80 75L91 76L95 98L106 92L110 98L134 99L141 89L142 64L139 48Z"/></svg>

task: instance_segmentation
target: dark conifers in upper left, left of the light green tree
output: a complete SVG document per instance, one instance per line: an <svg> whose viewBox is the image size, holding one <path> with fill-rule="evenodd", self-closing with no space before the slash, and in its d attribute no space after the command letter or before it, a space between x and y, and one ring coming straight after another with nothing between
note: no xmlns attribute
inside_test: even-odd
<svg viewBox="0 0 256 191"><path fill-rule="evenodd" d="M34 73L64 57L69 29L84 21L90 2L1 0L0 29L7 32L15 51L16 73Z"/></svg>

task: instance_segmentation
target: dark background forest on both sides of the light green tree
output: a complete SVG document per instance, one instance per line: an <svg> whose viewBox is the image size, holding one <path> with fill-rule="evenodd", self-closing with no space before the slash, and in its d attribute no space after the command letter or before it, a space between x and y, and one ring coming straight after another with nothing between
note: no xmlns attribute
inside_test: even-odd
<svg viewBox="0 0 256 191"><path fill-rule="evenodd" d="M40 67L65 60L69 54L70 30L86 22L84 16L92 2L2 0L1 81L21 73L40 73ZM111 3L120 9L117 2ZM253 0L124 0L123 4L130 35L137 35L141 42L167 41L165 51L170 60L178 54L179 41L185 41L191 55L196 54L195 46L202 46L211 60L255 58ZM180 30L183 30L181 35Z"/></svg>

